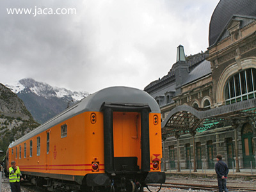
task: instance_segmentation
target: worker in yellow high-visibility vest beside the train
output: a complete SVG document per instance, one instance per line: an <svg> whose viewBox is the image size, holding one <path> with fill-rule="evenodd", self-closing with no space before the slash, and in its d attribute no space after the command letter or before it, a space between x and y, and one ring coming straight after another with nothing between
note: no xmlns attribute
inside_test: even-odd
<svg viewBox="0 0 256 192"><path fill-rule="evenodd" d="M23 180L20 176L19 166L16 166L15 161L12 161L9 168L9 180L12 192L20 192L20 180Z"/></svg>

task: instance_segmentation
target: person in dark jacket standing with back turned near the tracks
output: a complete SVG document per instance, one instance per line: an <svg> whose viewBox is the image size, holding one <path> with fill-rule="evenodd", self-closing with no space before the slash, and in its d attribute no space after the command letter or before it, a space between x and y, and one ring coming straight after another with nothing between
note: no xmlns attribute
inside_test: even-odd
<svg viewBox="0 0 256 192"><path fill-rule="evenodd" d="M228 189L226 186L228 166L226 163L221 161L222 159L221 155L216 156L216 158L218 162L215 164L215 172L217 173L219 192L223 192L223 191L228 192Z"/></svg>

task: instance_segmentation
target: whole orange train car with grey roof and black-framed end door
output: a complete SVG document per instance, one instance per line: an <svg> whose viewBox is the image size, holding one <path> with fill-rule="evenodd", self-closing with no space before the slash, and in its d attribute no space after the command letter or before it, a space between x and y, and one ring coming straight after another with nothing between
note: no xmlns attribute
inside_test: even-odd
<svg viewBox="0 0 256 192"><path fill-rule="evenodd" d="M148 93L116 86L10 144L7 164L49 191L143 191L164 183L161 116Z"/></svg>

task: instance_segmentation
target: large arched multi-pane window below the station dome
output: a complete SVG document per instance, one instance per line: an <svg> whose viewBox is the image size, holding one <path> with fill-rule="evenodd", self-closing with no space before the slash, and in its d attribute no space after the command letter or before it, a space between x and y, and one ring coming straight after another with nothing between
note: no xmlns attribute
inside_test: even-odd
<svg viewBox="0 0 256 192"><path fill-rule="evenodd" d="M225 87L226 104L256 97L256 69L248 68L230 77Z"/></svg>

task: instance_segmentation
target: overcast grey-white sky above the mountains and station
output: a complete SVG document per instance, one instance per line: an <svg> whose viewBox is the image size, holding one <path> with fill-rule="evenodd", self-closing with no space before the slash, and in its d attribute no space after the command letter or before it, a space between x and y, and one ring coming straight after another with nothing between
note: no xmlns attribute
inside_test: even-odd
<svg viewBox="0 0 256 192"><path fill-rule="evenodd" d="M1 0L0 83L31 77L89 93L108 86L143 90L168 73L180 44L187 55L207 50L218 2ZM10 8L32 11L12 15ZM58 8L76 14L54 14Z"/></svg>

